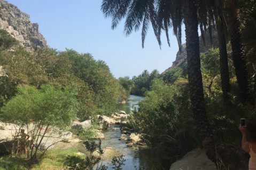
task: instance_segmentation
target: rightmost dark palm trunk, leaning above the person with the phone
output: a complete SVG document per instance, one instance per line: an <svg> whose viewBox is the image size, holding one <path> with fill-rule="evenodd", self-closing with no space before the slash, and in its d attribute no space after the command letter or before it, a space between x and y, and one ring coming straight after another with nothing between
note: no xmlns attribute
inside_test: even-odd
<svg viewBox="0 0 256 170"><path fill-rule="evenodd" d="M244 48L242 43L242 33L238 11L234 1L230 1L229 29L232 47L232 59L235 66L236 78L239 85L242 102L245 105L254 106L253 94L250 89L249 74L246 67Z"/></svg>

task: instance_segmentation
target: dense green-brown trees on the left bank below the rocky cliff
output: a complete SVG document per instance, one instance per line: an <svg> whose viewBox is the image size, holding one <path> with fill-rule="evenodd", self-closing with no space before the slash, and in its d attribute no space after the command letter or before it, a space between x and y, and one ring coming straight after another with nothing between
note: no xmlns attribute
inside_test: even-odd
<svg viewBox="0 0 256 170"><path fill-rule="evenodd" d="M128 98L129 89L123 88L113 77L104 61L95 61L91 54L79 54L69 49L57 52L52 48L27 52L17 46L17 41L6 31L1 31L0 38L4 41L0 44L0 65L4 76L0 77L0 107L24 94L17 91L17 87L21 89L27 86L34 87L35 91L42 87L51 89L45 85L60 89L72 86L77 91L72 95L79 103L76 104L75 115L82 120L98 114L111 115L117 111L117 104ZM34 93L31 93L27 97L33 96ZM3 110L1 117L3 112L8 114Z"/></svg>

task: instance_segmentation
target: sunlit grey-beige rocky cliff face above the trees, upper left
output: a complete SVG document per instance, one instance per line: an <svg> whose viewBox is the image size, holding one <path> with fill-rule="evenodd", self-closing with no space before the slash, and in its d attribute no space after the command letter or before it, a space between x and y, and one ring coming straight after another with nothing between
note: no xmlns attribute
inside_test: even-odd
<svg viewBox="0 0 256 170"><path fill-rule="evenodd" d="M38 24L32 23L28 14L4 0L0 0L0 29L5 29L28 51L46 46L46 39L39 33Z"/></svg>

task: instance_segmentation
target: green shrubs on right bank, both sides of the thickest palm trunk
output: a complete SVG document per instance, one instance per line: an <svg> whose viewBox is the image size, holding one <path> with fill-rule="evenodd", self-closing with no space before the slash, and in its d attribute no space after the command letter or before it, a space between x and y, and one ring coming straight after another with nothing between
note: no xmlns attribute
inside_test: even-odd
<svg viewBox="0 0 256 170"><path fill-rule="evenodd" d="M241 117L252 118L253 110L247 109L239 98L232 63L230 102L223 102L220 66L218 58L214 57L216 55L219 55L218 48L201 53L208 120L218 139L242 152L237 125ZM130 119L136 131L142 134L144 142L157 149L159 157L163 158L163 164L167 160L175 161L201 145L197 123L192 115L188 77L184 74L186 69L184 67L168 70L154 79L149 90L145 91L145 99L139 103L138 111L134 111L134 116ZM219 165L222 166L220 162Z"/></svg>

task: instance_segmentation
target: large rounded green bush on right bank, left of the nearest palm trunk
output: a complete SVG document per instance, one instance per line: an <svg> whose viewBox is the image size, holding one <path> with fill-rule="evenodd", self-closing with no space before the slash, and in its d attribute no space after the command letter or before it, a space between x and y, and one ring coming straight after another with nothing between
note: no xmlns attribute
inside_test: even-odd
<svg viewBox="0 0 256 170"><path fill-rule="evenodd" d="M131 122L143 140L158 147L163 157L169 153L184 155L200 144L187 86L154 81Z"/></svg>

